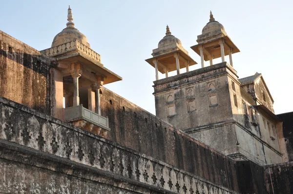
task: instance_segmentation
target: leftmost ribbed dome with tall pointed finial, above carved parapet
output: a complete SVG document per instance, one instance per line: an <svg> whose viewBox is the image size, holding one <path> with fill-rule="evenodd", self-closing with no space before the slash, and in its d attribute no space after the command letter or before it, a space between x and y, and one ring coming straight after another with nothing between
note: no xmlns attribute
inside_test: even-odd
<svg viewBox="0 0 293 194"><path fill-rule="evenodd" d="M84 36L83 33L81 33L78 29L74 27L73 17L72 17L72 11L70 9L70 6L68 8L68 15L67 15L68 22L66 23L66 28L63 29L60 33L58 33L52 42L52 46L58 46L65 42L70 42L73 40L78 40L84 45L90 47L87 38Z"/></svg>

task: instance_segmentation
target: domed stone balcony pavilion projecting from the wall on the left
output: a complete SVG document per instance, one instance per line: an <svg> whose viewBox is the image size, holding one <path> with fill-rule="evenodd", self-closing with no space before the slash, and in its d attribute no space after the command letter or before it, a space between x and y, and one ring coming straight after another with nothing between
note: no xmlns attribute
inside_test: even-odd
<svg viewBox="0 0 293 194"><path fill-rule="evenodd" d="M100 94L103 85L122 80L104 67L101 56L90 48L87 38L73 22L69 6L66 28L53 39L51 48L41 53L56 58L53 68L53 116L73 122L96 134L106 136L108 118L101 115ZM65 108L63 108L63 97Z"/></svg>

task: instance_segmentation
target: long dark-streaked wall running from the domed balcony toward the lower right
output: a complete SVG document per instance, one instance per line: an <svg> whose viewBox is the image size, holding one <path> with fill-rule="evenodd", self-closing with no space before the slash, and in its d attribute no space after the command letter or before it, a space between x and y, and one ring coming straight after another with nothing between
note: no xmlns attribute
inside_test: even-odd
<svg viewBox="0 0 293 194"><path fill-rule="evenodd" d="M108 139L237 191L235 161L106 88L102 93L101 112L111 129Z"/></svg>

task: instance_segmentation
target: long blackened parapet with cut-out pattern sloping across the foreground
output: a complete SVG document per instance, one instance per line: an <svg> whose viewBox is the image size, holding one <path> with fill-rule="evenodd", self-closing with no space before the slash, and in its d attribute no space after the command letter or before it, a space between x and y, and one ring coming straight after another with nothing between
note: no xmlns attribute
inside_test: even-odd
<svg viewBox="0 0 293 194"><path fill-rule="evenodd" d="M2 142L110 172L119 180L159 193L237 193L2 97L0 113Z"/></svg>

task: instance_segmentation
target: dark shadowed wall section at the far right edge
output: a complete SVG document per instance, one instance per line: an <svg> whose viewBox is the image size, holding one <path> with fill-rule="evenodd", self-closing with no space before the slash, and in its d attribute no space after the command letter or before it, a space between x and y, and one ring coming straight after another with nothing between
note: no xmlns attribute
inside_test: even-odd
<svg viewBox="0 0 293 194"><path fill-rule="evenodd" d="M283 135L288 153L288 160L293 161L293 112L277 115L283 121Z"/></svg>

